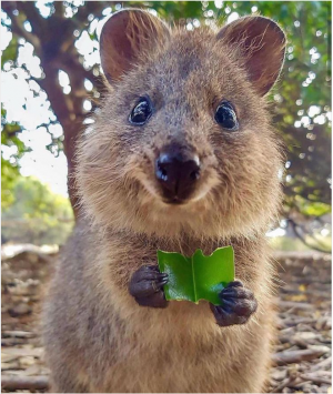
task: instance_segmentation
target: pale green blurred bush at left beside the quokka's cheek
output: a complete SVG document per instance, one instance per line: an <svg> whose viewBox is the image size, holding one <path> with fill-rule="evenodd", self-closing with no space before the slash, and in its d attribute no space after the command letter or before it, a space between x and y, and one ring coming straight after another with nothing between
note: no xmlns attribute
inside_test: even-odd
<svg viewBox="0 0 333 394"><path fill-rule="evenodd" d="M68 199L52 193L30 176L20 176L12 188L12 203L2 212L4 241L63 244L73 226Z"/></svg>

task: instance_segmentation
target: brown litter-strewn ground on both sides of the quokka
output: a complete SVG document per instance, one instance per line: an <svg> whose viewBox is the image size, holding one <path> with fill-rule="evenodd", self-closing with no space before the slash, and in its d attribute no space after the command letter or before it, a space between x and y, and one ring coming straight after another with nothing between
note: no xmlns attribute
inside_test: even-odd
<svg viewBox="0 0 333 394"><path fill-rule="evenodd" d="M331 393L331 255L276 253L279 343L270 392ZM2 392L48 390L39 314L57 255L26 251L2 261Z"/></svg>

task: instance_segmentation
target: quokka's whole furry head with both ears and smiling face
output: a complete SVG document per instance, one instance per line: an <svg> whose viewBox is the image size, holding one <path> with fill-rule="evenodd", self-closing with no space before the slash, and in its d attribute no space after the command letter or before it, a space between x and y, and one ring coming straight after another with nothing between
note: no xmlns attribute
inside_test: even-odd
<svg viewBox="0 0 333 394"><path fill-rule="evenodd" d="M142 10L101 33L109 94L79 148L78 182L101 225L159 235L251 235L280 200L264 95L285 36L270 19L214 32L169 29Z"/></svg>

